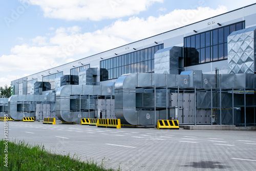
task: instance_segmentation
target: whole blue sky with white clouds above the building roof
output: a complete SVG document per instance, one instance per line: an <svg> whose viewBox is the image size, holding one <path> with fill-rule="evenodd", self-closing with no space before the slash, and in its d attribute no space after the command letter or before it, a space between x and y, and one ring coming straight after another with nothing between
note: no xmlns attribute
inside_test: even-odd
<svg viewBox="0 0 256 171"><path fill-rule="evenodd" d="M0 0L0 86L253 3Z"/></svg>

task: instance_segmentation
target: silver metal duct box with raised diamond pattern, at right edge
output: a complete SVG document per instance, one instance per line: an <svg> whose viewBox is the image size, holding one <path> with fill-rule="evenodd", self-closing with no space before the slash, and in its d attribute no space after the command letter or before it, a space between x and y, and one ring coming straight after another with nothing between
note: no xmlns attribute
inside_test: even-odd
<svg viewBox="0 0 256 171"><path fill-rule="evenodd" d="M256 27L232 32L227 37L228 74L254 73Z"/></svg>

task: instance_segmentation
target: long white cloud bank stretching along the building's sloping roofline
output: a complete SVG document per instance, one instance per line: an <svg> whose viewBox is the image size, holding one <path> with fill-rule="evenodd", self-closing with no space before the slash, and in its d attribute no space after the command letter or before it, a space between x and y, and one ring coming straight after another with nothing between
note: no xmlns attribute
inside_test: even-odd
<svg viewBox="0 0 256 171"><path fill-rule="evenodd" d="M226 11L224 6L217 9L199 7L194 10L174 10L159 17L131 17L125 21L120 19L101 30L87 33L81 33L78 26L60 27L50 33L51 36L37 36L26 44L14 46L10 51L11 55L0 56L0 73L12 71L20 78L24 73L47 70L77 60L81 56L87 57ZM191 13L196 15L183 22L183 18ZM7 77L2 75L0 79L4 82ZM0 86L4 86L1 85L1 80Z"/></svg>

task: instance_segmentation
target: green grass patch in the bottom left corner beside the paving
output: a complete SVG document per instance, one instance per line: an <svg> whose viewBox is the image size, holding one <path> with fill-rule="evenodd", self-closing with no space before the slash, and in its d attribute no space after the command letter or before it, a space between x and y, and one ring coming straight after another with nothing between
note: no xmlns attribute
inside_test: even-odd
<svg viewBox="0 0 256 171"><path fill-rule="evenodd" d="M113 170L102 163L80 161L77 156L61 156L46 151L44 145L29 145L24 141L8 142L8 167L5 166L5 140L0 141L0 170Z"/></svg>

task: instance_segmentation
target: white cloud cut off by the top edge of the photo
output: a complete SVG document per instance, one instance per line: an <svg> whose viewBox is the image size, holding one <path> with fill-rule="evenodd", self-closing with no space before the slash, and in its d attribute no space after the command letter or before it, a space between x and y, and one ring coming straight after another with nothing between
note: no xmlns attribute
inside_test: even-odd
<svg viewBox="0 0 256 171"><path fill-rule="evenodd" d="M161 3L163 0L29 0L29 2L40 6L45 17L102 20L138 14L153 3Z"/></svg>

